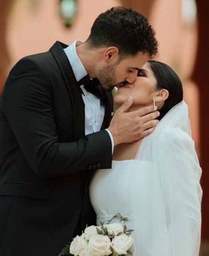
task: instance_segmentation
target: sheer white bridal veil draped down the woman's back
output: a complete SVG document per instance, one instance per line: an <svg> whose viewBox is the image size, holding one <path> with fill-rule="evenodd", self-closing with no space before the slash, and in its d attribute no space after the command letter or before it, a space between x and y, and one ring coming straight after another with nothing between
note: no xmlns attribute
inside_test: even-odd
<svg viewBox="0 0 209 256"><path fill-rule="evenodd" d="M173 107L146 137L135 157L146 163L146 193L133 172L130 219L135 256L198 256L201 231L201 167L191 138L188 107ZM140 167L140 165L139 165ZM139 168L140 169L140 168ZM140 172L140 170L138 170ZM135 174L134 174L135 173ZM136 202L140 198L140 206ZM143 207L142 207L143 206ZM135 234L134 234L135 233Z"/></svg>

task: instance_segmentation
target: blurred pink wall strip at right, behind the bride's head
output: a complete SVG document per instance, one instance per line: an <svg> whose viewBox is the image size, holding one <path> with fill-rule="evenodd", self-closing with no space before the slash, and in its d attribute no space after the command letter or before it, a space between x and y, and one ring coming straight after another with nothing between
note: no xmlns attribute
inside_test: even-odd
<svg viewBox="0 0 209 256"><path fill-rule="evenodd" d="M170 65L180 76L184 86L184 100L189 105L192 136L200 156L199 90L191 80L197 49L195 21L185 22L182 17L183 0L155 0L150 12L160 44L157 60Z"/></svg>

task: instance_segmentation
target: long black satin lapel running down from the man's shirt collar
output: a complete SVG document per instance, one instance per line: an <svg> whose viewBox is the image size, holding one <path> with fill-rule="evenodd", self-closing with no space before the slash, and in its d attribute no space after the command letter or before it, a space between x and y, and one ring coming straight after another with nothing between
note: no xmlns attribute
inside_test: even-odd
<svg viewBox="0 0 209 256"><path fill-rule="evenodd" d="M63 50L67 46L68 45L57 41L51 47L50 52L54 56L56 63L64 76L66 86L71 97L74 112L74 139L79 140L79 138L84 138L85 136L85 105L82 99L80 87L76 81L69 60Z"/></svg>

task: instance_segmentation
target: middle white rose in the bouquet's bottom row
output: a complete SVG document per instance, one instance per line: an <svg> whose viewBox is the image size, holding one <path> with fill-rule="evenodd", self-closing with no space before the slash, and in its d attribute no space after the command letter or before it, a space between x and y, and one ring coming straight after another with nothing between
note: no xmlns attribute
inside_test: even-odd
<svg viewBox="0 0 209 256"><path fill-rule="evenodd" d="M107 256L110 250L110 238L107 235L92 235L89 239L88 256Z"/></svg>

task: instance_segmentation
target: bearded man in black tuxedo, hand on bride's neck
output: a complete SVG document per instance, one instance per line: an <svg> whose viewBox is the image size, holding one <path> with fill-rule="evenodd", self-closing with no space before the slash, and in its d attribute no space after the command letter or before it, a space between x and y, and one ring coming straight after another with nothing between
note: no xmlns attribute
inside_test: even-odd
<svg viewBox="0 0 209 256"><path fill-rule="evenodd" d="M57 256L96 223L94 170L111 168L115 145L158 122L151 107L126 112L132 99L112 118L111 90L133 83L156 52L147 19L118 7L99 15L86 42L56 42L12 68L0 103L1 256Z"/></svg>

